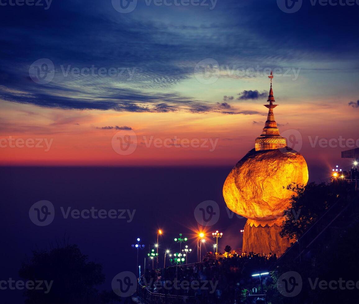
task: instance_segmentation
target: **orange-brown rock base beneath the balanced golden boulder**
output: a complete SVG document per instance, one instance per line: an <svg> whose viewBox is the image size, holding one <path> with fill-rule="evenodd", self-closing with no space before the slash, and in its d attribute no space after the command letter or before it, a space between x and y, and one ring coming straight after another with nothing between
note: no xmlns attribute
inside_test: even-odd
<svg viewBox="0 0 359 304"><path fill-rule="evenodd" d="M248 219L244 226L242 252L265 253L266 255L271 252L277 257L283 255L290 246L289 238L279 236L283 219L266 221Z"/></svg>

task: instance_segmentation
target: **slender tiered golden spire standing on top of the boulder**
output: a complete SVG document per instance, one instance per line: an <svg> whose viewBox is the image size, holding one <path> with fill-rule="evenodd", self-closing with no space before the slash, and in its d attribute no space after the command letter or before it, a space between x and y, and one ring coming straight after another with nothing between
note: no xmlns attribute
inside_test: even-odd
<svg viewBox="0 0 359 304"><path fill-rule="evenodd" d="M287 145L286 139L280 136L277 123L274 119L273 109L278 105L273 104L275 102L273 89L272 89L273 77L274 77L273 72L271 71L270 76L268 76L268 78L270 79L270 90L267 99L269 104L264 105L266 108L269 109L269 111L262 134L259 137L257 137L255 141L256 151L280 149L280 148L284 148Z"/></svg>

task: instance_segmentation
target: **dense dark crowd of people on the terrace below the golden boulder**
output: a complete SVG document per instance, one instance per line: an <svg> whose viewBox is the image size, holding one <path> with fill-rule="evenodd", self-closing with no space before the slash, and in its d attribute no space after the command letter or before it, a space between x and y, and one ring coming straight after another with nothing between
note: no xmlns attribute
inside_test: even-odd
<svg viewBox="0 0 359 304"><path fill-rule="evenodd" d="M185 296L187 303L265 303L259 276L252 274L267 272L277 259L275 254L213 257L208 253L201 263L146 270L142 288L156 294ZM269 275L262 277L264 290L270 280Z"/></svg>

